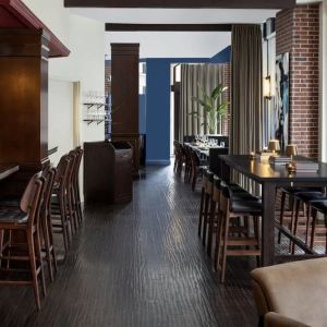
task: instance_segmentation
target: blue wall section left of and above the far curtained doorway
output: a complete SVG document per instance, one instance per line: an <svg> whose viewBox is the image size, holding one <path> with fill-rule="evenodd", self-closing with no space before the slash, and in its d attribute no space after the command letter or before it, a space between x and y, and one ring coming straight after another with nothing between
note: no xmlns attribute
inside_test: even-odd
<svg viewBox="0 0 327 327"><path fill-rule="evenodd" d="M146 162L170 164L170 65L207 58L146 59Z"/></svg>

